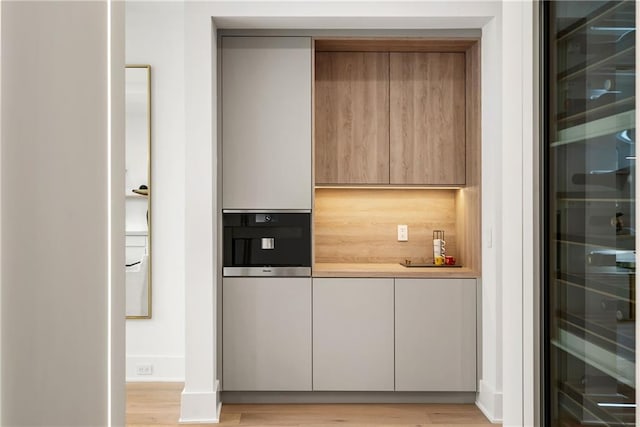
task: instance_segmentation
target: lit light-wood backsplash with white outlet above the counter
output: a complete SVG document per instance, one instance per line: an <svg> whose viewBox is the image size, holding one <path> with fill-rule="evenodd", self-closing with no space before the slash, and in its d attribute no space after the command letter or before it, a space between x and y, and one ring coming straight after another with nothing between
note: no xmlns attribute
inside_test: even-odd
<svg viewBox="0 0 640 427"><path fill-rule="evenodd" d="M433 230L457 256L456 193L426 189L316 189L315 262L433 262ZM397 226L409 226L398 242Z"/></svg>

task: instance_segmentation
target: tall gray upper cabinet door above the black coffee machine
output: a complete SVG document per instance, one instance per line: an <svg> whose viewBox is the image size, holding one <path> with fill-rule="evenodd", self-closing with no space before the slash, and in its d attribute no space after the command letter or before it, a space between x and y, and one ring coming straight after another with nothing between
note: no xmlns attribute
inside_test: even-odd
<svg viewBox="0 0 640 427"><path fill-rule="evenodd" d="M311 209L311 38L222 37L224 209Z"/></svg>

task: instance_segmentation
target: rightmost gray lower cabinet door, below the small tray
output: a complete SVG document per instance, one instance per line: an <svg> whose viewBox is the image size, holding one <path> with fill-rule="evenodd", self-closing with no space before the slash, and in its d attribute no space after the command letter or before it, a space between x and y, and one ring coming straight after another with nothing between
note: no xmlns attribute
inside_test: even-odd
<svg viewBox="0 0 640 427"><path fill-rule="evenodd" d="M476 280L396 279L396 390L476 390Z"/></svg>

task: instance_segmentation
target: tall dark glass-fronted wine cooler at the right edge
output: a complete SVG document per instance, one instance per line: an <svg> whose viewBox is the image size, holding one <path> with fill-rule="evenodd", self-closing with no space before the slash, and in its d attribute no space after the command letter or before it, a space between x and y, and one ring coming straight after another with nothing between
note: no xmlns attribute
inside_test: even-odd
<svg viewBox="0 0 640 427"><path fill-rule="evenodd" d="M542 4L545 426L635 425L635 7Z"/></svg>

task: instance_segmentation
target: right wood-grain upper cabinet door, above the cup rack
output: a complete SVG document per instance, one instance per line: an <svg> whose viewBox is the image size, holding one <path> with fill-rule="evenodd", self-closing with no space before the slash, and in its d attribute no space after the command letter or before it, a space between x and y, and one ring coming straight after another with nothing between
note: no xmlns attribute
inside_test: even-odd
<svg viewBox="0 0 640 427"><path fill-rule="evenodd" d="M390 53L391 184L465 183L464 53Z"/></svg>

